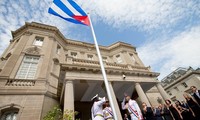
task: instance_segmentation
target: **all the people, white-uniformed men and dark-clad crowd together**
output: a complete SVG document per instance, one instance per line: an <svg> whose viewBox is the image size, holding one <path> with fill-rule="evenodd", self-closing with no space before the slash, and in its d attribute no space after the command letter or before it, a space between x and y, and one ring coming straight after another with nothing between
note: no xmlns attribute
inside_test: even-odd
<svg viewBox="0 0 200 120"><path fill-rule="evenodd" d="M147 106L145 102L140 108L135 100L124 94L121 109L124 120L200 120L200 90L191 86L192 96L183 94L184 100L175 101L165 100L164 104L157 107ZM109 101L98 95L92 98L94 104L91 109L92 120L114 120Z"/></svg>

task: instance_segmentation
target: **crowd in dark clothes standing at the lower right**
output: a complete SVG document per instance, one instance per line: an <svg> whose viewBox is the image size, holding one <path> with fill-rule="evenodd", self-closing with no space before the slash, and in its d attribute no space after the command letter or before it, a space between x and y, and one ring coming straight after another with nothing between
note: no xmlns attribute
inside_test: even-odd
<svg viewBox="0 0 200 120"><path fill-rule="evenodd" d="M200 90L191 86L193 94L183 94L184 100L176 100L174 104L165 100L165 104L157 107L148 107L142 104L142 113L145 120L200 120Z"/></svg>

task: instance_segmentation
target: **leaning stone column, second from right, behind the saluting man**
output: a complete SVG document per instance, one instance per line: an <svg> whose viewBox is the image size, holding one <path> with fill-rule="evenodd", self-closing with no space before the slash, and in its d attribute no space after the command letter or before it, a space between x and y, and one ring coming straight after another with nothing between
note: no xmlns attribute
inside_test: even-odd
<svg viewBox="0 0 200 120"><path fill-rule="evenodd" d="M145 93L139 83L135 84L135 89L137 91L138 96L140 97L141 102L145 102L147 104L147 106L151 106L147 96L145 95Z"/></svg>

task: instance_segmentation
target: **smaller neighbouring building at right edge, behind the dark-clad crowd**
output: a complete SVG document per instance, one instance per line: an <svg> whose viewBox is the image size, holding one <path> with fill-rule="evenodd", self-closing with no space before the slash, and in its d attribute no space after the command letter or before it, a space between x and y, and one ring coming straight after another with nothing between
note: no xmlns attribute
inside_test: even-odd
<svg viewBox="0 0 200 120"><path fill-rule="evenodd" d="M184 93L190 94L190 86L200 89L200 68L178 68L161 80L162 86L172 101L185 100Z"/></svg>

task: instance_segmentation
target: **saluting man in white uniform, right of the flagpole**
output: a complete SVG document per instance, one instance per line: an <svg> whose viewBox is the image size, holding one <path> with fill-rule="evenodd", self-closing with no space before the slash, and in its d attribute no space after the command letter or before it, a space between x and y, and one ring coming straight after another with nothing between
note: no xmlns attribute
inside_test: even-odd
<svg viewBox="0 0 200 120"><path fill-rule="evenodd" d="M127 103L125 104L125 101ZM142 112L135 100L132 100L130 96L124 94L124 100L122 102L122 109L127 109L130 113L131 120L143 120Z"/></svg>

